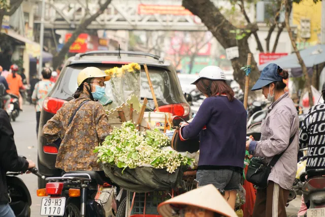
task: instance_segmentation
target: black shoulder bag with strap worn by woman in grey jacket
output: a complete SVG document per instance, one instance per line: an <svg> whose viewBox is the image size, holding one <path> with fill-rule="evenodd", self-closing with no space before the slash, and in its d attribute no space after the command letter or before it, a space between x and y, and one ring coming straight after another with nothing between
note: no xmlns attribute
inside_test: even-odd
<svg viewBox="0 0 325 217"><path fill-rule="evenodd" d="M274 156L269 164L265 163L261 158L252 158L247 168L246 180L262 189L268 187L268 178L272 167L274 167L276 162L281 158L282 154L288 149L295 136L296 134L290 138L289 145L285 148L285 150Z"/></svg>

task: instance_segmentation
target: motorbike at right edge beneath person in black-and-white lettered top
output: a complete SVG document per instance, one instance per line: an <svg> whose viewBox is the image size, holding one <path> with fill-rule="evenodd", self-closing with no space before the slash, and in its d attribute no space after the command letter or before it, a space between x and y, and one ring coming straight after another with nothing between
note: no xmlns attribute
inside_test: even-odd
<svg viewBox="0 0 325 217"><path fill-rule="evenodd" d="M305 159L307 156L302 158ZM304 182L301 189L304 201L309 204L305 216L325 216L325 169L307 170L301 174L300 181Z"/></svg>

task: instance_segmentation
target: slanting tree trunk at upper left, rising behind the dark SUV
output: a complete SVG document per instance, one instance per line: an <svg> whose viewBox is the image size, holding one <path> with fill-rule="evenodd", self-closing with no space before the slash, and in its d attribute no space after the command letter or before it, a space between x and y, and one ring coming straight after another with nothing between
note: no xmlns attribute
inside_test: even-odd
<svg viewBox="0 0 325 217"><path fill-rule="evenodd" d="M53 57L53 69L56 69L60 64L62 64L64 57L69 52L70 46L76 41L78 36L87 28L87 26L94 21L98 16L100 16L103 11L108 7L108 5L111 3L112 0L106 0L103 5L100 4L100 9L93 15L91 15L89 18L85 19L73 32L71 38L66 42L66 44L63 45L60 52L58 52Z"/></svg>

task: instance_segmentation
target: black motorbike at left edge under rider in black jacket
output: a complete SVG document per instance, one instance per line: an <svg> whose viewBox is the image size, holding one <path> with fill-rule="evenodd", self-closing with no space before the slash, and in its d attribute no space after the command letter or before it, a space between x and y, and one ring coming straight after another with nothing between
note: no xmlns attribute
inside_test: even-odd
<svg viewBox="0 0 325 217"><path fill-rule="evenodd" d="M42 176L37 168L31 168L29 171L45 179L45 176ZM9 205L16 217L30 217L31 197L25 183L17 177L18 175L21 175L21 172L8 172L6 174Z"/></svg>

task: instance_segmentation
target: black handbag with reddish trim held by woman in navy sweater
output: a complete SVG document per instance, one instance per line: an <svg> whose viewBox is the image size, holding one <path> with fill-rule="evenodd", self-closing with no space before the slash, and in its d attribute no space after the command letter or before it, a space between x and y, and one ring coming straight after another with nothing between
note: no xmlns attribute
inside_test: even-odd
<svg viewBox="0 0 325 217"><path fill-rule="evenodd" d="M181 117L179 117L179 118L181 118ZM183 118L181 118L181 119L183 121L185 121L186 123L188 123ZM174 131L174 135L173 135L172 141L171 141L172 148L178 152L185 152L185 151L188 151L190 153L197 152L200 148L200 136L198 135L195 138L190 138L185 141L182 141L179 137L179 130L180 130L180 127L176 127L176 130Z"/></svg>

